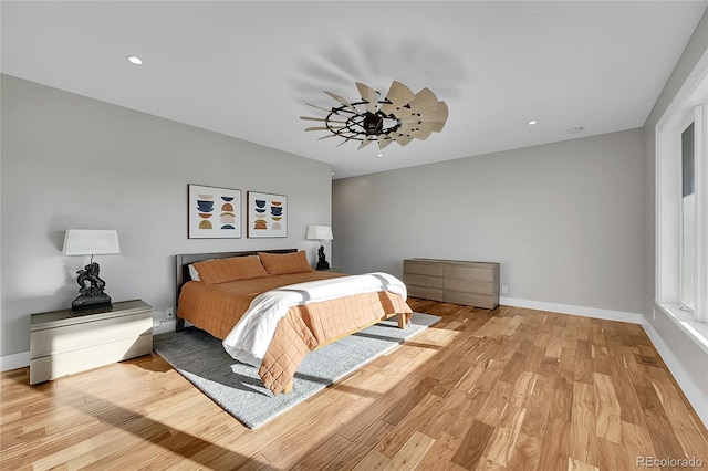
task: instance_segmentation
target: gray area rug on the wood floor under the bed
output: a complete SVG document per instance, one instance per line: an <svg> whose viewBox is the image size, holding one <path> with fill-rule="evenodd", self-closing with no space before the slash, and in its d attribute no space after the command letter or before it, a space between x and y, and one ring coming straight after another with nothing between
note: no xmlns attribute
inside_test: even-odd
<svg viewBox="0 0 708 471"><path fill-rule="evenodd" d="M188 327L183 332L156 335L153 348L227 412L254 429L440 318L414 313L410 324L400 329L393 317L311 352L295 374L294 390L278 396L263 386L257 368L232 359L221 341L204 331Z"/></svg>

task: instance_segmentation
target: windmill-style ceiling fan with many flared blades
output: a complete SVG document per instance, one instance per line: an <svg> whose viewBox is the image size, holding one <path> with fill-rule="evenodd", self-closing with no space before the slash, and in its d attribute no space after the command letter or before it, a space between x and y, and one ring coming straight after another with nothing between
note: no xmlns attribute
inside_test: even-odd
<svg viewBox="0 0 708 471"><path fill-rule="evenodd" d="M400 82L394 81L384 100L374 88L356 82L362 100L350 102L336 93L324 92L340 106L323 108L309 106L326 112L325 117L300 116L300 119L323 122L324 126L308 127L305 130L326 130L327 137L341 137L341 146L350 140L360 142L361 149L373 142L383 149L396 142L402 146L413 139L427 139L431 133L439 133L447 121L448 109L445 102L439 102L435 93L423 88L413 93Z"/></svg>

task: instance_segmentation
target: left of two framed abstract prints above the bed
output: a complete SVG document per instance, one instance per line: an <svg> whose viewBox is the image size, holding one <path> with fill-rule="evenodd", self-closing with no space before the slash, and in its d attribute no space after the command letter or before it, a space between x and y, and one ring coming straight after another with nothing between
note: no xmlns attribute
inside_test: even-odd
<svg viewBox="0 0 708 471"><path fill-rule="evenodd" d="M189 239L240 238L241 190L189 185Z"/></svg>

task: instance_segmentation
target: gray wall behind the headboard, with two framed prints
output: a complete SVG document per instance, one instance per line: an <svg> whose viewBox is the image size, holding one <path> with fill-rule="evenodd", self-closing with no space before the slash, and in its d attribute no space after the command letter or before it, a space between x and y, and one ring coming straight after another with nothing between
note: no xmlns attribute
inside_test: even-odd
<svg viewBox="0 0 708 471"><path fill-rule="evenodd" d="M106 292L156 311L175 305L177 253L301 248L315 262L304 237L330 223L329 165L7 75L1 86L0 356L29 350L30 314L79 294L88 258L61 253L66 229L116 229L122 253L96 257ZM288 196L288 238L188 239L188 184L240 189L243 208L248 190Z"/></svg>

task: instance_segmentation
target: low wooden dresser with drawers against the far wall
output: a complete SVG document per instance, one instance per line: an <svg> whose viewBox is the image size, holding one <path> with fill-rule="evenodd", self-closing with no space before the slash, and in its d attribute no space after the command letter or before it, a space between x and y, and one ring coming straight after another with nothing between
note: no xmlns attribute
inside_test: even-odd
<svg viewBox="0 0 708 471"><path fill-rule="evenodd" d="M499 305L499 263L458 260L403 261L408 295L493 310Z"/></svg>

